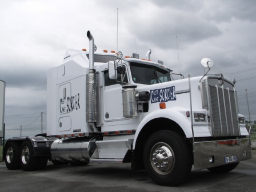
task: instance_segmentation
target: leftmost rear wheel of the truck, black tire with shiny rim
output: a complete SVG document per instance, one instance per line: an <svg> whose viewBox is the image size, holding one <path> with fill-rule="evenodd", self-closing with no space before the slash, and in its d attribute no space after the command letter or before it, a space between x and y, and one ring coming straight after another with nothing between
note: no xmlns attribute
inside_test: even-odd
<svg viewBox="0 0 256 192"><path fill-rule="evenodd" d="M10 170L21 168L18 143L9 142L5 147L5 165Z"/></svg>

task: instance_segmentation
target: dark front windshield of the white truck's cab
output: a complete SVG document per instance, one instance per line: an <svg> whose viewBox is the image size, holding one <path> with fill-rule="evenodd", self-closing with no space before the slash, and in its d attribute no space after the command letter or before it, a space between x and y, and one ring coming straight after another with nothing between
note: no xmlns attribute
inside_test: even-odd
<svg viewBox="0 0 256 192"><path fill-rule="evenodd" d="M134 83L150 85L171 81L168 70L154 65L130 62L130 69Z"/></svg>

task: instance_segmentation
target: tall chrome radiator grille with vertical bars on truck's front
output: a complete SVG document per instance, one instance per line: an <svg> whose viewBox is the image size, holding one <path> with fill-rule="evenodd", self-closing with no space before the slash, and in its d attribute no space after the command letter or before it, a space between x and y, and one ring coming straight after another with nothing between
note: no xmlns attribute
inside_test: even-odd
<svg viewBox="0 0 256 192"><path fill-rule="evenodd" d="M239 135L234 91L219 85L209 89L213 136Z"/></svg>

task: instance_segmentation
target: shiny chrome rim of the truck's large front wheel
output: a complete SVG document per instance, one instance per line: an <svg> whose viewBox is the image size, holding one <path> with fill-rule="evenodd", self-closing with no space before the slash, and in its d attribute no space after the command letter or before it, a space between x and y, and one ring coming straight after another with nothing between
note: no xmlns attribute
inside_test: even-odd
<svg viewBox="0 0 256 192"><path fill-rule="evenodd" d="M175 163L173 150L166 143L156 143L151 149L150 161L158 174L167 175L173 170Z"/></svg>

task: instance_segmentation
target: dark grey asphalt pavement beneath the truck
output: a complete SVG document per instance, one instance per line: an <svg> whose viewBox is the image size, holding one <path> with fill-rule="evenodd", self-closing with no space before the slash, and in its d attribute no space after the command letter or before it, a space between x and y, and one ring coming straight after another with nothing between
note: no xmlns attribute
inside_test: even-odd
<svg viewBox="0 0 256 192"><path fill-rule="evenodd" d="M132 171L130 164L89 164L55 166L25 172L7 170L0 162L0 191L256 191L256 150L253 159L240 162L230 173L191 171L189 179L177 187L156 185L145 170Z"/></svg>

